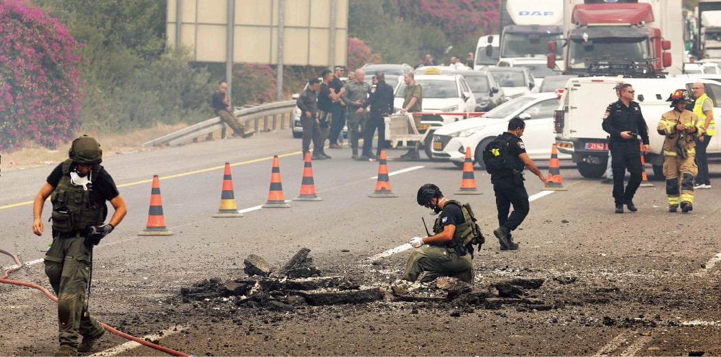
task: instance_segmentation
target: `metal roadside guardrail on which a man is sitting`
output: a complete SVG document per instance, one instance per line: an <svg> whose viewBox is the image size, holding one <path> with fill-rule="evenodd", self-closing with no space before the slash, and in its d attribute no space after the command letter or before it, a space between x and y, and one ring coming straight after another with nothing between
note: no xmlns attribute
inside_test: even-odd
<svg viewBox="0 0 721 357"><path fill-rule="evenodd" d="M271 131L278 128L278 121L280 121L281 129L286 128L286 122L288 128L290 128L293 125L293 109L295 107L295 100L285 100L283 102L244 107L235 110L234 113L241 122L245 123L247 128L252 126L256 132ZM279 116L280 120L278 120ZM250 125L251 121L253 122L252 125ZM213 138L213 133L216 131L221 131L221 138L225 138L226 128L226 123L223 123L220 117L211 118L143 143L143 146L175 146L185 144L187 141L195 143L201 136L207 136L208 139Z"/></svg>

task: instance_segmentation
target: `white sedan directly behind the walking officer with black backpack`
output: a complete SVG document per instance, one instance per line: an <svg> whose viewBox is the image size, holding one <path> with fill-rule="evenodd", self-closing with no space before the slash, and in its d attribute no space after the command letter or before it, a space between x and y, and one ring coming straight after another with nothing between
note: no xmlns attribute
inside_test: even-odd
<svg viewBox="0 0 721 357"><path fill-rule="evenodd" d="M550 159L552 146L556 142L553 115L558 107L559 94L528 94L505 102L482 117L438 128L433 133L433 158L449 160L457 167L463 167L466 147L470 147L474 162L485 168L482 158L485 146L500 133L508 131L508 120L526 116L523 143L526 144L528 156L537 160ZM559 158L570 156L559 154Z"/></svg>

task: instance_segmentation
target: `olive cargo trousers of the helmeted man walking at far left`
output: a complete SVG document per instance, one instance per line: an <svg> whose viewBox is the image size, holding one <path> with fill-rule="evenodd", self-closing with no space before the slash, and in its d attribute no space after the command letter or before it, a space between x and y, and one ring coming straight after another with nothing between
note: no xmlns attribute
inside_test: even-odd
<svg viewBox="0 0 721 357"><path fill-rule="evenodd" d="M78 334L90 338L102 335L103 328L83 309L91 268L92 246L85 237L59 237L53 234L53 245L45 255L45 275L58 296L58 340L60 345L77 349Z"/></svg>

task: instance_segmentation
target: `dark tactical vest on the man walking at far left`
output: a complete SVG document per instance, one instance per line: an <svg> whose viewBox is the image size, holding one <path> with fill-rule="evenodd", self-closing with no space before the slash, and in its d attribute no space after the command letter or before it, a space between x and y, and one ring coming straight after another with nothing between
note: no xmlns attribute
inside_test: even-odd
<svg viewBox="0 0 721 357"><path fill-rule="evenodd" d="M90 190L92 183L83 186L73 185L70 182L70 167L73 160L67 159L63 162L63 176L58 182L58 187L50 195L50 202L53 203L53 213L50 219L53 220L53 231L68 233L84 231L88 226L98 226L105 221L105 202L91 202ZM94 165L90 172L95 180L102 169L100 165Z"/></svg>

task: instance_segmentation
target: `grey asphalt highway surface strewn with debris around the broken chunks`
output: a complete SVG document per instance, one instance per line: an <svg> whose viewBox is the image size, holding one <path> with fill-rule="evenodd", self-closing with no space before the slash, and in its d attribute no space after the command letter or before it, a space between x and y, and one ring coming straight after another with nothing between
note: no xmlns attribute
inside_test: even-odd
<svg viewBox="0 0 721 357"><path fill-rule="evenodd" d="M102 143L101 143L102 144ZM356 162L350 149L327 149L313 162L318 202L263 208L271 162L280 157L286 200L298 195L301 141L288 131L248 139L107 155L103 165L128 203L125 217L94 250L91 311L108 325L193 355L688 355L721 354L721 229L719 182L699 190L694 211L668 213L663 182L640 188L637 213L614 214L611 185L580 177L562 162L567 191L543 191L527 173L531 213L514 232L518 251L500 251L490 177L476 170L482 195L454 195L461 170L443 162L389 161L398 198L369 198L377 162ZM389 157L404 151L390 150ZM224 163L244 217L215 219ZM537 162L547 172L548 162ZM0 248L26 263L11 278L49 288L43 237L32 234L32 198L52 167L3 172ZM713 162L712 172L721 172ZM647 167L650 172L650 167ZM159 175L170 237L139 237L151 178ZM487 243L474 259L474 291L498 294L511 278L543 279L524 291L549 309L461 302L397 301L298 307L291 312L187 301L181 288L204 279L247 278L255 254L282 265L301 247L326 275L384 289L397 284L411 237L424 236L417 188L433 182L450 198L472 203ZM50 203L45 204L47 219ZM389 250L391 250L389 252ZM380 255L380 256L379 256ZM373 261L369 257L376 256ZM3 270L12 267L0 255ZM518 299L516 299L518 300ZM518 302L518 301L516 301ZM56 349L56 308L30 288L0 284L0 355L42 356ZM163 355L106 334L103 355Z"/></svg>

